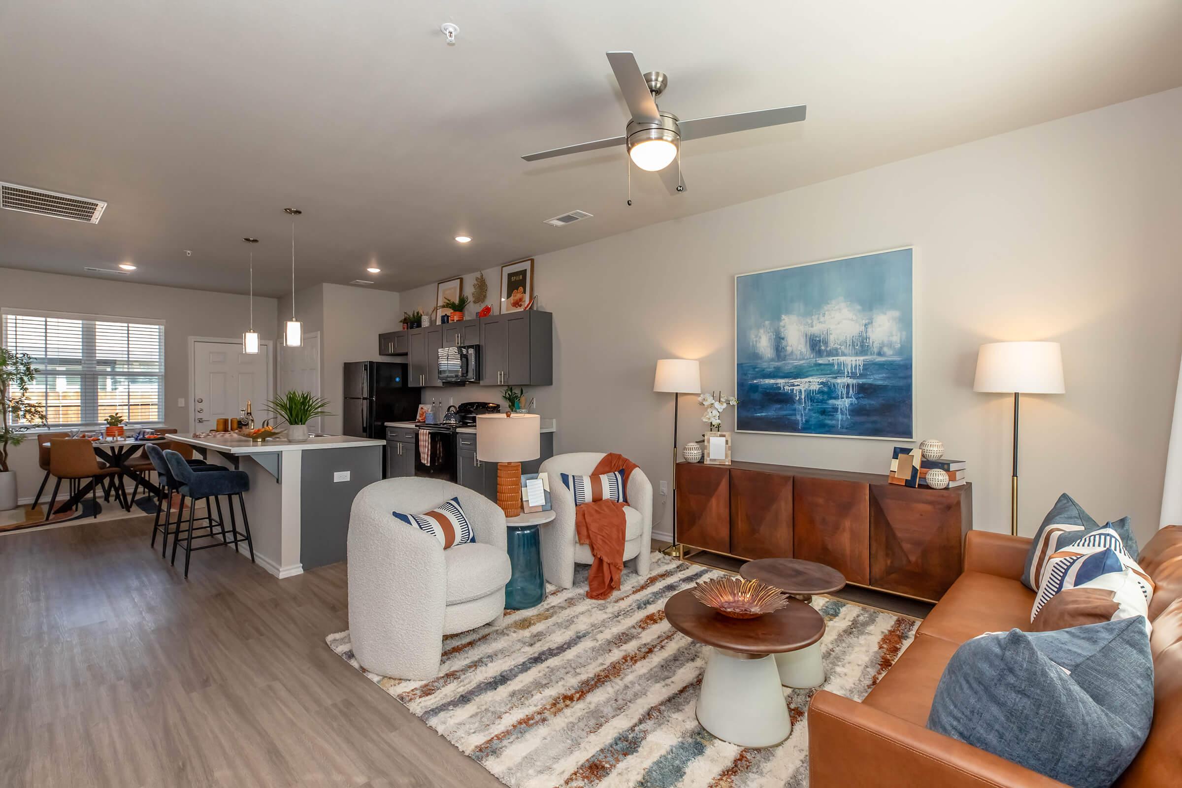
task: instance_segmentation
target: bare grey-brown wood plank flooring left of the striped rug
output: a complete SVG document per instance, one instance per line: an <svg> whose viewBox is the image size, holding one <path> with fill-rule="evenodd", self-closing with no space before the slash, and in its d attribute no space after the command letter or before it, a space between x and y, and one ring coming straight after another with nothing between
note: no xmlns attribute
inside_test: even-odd
<svg viewBox="0 0 1182 788"><path fill-rule="evenodd" d="M325 645L344 564L186 581L150 527L0 536L0 786L501 784Z"/></svg>

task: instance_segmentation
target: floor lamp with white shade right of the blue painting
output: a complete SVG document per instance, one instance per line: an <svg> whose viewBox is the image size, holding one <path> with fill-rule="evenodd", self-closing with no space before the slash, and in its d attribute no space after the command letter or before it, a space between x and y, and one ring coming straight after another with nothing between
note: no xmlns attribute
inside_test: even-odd
<svg viewBox="0 0 1182 788"><path fill-rule="evenodd" d="M1009 533L1018 535L1018 405L1024 393L1064 393L1059 343L989 343L976 354L973 391L1014 395L1014 470L1009 491Z"/></svg>

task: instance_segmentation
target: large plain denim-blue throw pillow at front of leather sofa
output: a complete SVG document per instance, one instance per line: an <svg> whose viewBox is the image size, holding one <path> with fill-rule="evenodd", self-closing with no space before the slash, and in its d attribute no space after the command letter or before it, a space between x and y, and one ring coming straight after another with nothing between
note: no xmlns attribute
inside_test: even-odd
<svg viewBox="0 0 1182 788"><path fill-rule="evenodd" d="M1154 717L1154 663L1137 618L998 632L953 655L928 728L1076 788L1111 786Z"/></svg>

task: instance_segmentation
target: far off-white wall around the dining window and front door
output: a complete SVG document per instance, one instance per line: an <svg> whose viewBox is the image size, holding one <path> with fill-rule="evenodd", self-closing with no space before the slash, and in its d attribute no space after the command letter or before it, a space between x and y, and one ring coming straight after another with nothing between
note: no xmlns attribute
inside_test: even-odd
<svg viewBox="0 0 1182 788"><path fill-rule="evenodd" d="M0 306L110 314L164 320L164 422L189 426L189 337L240 339L249 323L246 295L139 285L124 279L63 276L0 268ZM254 327L274 339L275 299L255 297ZM176 403L186 399L186 406ZM12 450L19 497L32 499L44 475L37 467L37 445L26 441Z"/></svg>

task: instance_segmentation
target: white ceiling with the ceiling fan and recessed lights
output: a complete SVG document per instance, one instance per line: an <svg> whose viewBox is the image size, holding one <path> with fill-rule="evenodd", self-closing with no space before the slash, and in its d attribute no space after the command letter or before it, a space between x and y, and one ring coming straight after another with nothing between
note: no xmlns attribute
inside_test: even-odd
<svg viewBox="0 0 1182 788"><path fill-rule="evenodd" d="M294 206L300 287L404 289L1175 87L1180 41L1177 0L5 2L0 180L110 206L0 210L0 266L245 292L253 235L279 295ZM522 162L623 132L617 48L682 119L808 119L688 142L631 208L623 149Z"/></svg>

